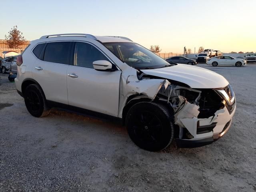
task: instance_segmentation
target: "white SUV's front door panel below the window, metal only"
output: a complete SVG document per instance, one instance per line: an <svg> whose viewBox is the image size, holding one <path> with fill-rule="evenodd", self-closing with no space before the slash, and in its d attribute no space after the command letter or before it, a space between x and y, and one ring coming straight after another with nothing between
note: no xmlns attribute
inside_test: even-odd
<svg viewBox="0 0 256 192"><path fill-rule="evenodd" d="M121 71L106 72L92 68L68 66L68 104L118 116L119 83Z"/></svg>

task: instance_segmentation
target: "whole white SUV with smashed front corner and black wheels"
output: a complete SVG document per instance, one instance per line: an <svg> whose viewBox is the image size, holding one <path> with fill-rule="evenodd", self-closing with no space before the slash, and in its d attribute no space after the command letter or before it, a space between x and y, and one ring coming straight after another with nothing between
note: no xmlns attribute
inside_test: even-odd
<svg viewBox="0 0 256 192"><path fill-rule="evenodd" d="M174 138L181 148L210 144L230 128L236 109L223 76L169 64L125 37L42 36L17 65L16 88L33 116L58 107L121 118L132 141L149 151Z"/></svg>

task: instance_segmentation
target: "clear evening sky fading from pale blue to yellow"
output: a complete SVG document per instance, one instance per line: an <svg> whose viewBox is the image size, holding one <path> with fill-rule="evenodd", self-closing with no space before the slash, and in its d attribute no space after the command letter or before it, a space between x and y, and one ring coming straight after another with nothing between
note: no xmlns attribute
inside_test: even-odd
<svg viewBox="0 0 256 192"><path fill-rule="evenodd" d="M1 1L10 6L1 8L0 39L17 25L26 40L86 33L126 36L166 53L183 53L184 46L256 52L256 0Z"/></svg>

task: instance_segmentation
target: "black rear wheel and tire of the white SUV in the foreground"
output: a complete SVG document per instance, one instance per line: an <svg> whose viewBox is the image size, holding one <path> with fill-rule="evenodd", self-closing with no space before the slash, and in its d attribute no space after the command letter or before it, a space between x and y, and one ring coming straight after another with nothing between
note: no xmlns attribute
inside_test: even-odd
<svg viewBox="0 0 256 192"><path fill-rule="evenodd" d="M50 113L44 93L37 84L31 84L26 88L24 101L28 112L34 117L43 117Z"/></svg>

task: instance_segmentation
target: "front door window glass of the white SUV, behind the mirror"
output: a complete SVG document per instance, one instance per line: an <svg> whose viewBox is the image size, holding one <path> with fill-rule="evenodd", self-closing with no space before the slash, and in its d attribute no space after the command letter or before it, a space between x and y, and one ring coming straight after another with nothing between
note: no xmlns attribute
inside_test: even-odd
<svg viewBox="0 0 256 192"><path fill-rule="evenodd" d="M108 60L98 49L88 43L76 42L74 65L93 68L92 63L98 60Z"/></svg>

